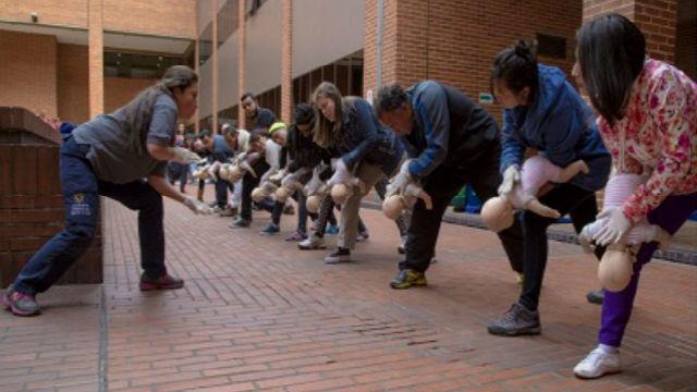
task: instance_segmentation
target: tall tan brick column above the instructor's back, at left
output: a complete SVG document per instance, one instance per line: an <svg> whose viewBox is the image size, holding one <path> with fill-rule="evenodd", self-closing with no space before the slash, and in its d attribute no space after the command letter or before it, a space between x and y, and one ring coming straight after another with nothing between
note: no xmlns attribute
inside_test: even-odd
<svg viewBox="0 0 697 392"><path fill-rule="evenodd" d="M87 3L89 46L89 117L105 111L105 37L102 29L102 0Z"/></svg>

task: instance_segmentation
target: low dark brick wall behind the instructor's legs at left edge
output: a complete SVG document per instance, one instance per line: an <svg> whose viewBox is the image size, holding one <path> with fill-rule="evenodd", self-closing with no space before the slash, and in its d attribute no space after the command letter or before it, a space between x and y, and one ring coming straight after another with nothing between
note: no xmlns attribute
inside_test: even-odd
<svg viewBox="0 0 697 392"><path fill-rule="evenodd" d="M32 130L28 132L27 130ZM63 229L60 136L28 111L0 108L0 285ZM100 283L101 230L59 283Z"/></svg>

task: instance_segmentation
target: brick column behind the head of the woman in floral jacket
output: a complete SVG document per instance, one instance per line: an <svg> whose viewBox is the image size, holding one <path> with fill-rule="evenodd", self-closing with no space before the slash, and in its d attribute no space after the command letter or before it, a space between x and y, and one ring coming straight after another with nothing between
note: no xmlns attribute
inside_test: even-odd
<svg viewBox="0 0 697 392"><path fill-rule="evenodd" d="M636 23L646 37L649 56L675 61L676 0L584 0L584 22L611 12Z"/></svg>

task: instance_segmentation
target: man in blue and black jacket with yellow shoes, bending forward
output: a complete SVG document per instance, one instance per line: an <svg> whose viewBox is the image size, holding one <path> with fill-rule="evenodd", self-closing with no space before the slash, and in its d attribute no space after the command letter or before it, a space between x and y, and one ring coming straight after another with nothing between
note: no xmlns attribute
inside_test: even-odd
<svg viewBox="0 0 697 392"><path fill-rule="evenodd" d="M499 128L493 118L463 93L432 81L404 90L399 85L380 89L375 109L380 121L402 136L409 158L408 171L401 171L390 191L400 192L420 183L432 198L432 210L418 201L405 246L405 258L391 282L392 289L425 285L425 272L433 257L442 216L450 200L470 184L487 200L497 195L499 175ZM499 233L511 267L523 271L519 224Z"/></svg>

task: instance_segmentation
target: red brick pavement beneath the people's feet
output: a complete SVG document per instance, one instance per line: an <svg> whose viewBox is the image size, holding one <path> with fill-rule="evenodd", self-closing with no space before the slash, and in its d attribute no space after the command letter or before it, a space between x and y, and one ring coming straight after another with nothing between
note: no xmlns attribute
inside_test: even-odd
<svg viewBox="0 0 697 392"><path fill-rule="evenodd" d="M328 266L282 235L166 206L170 271L180 291L140 293L135 213L105 201L102 286L39 297L38 318L0 316L0 391L515 391L694 390L697 268L655 261L644 273L622 373L577 380L600 308L592 258L552 243L543 333L486 332L519 286L492 234L445 224L429 286L393 291L396 229L363 210L371 237L355 261ZM331 238L331 237L329 237ZM103 296L102 296L103 293Z"/></svg>

